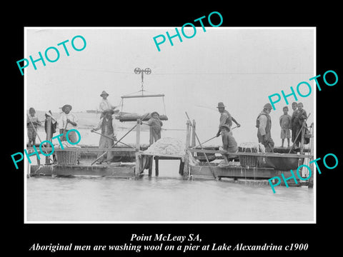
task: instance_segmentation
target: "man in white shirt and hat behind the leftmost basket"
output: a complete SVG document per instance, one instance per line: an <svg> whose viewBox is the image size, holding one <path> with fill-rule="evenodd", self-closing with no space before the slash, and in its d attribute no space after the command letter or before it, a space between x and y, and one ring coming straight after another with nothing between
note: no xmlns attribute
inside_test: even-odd
<svg viewBox="0 0 343 257"><path fill-rule="evenodd" d="M63 133L61 136L61 141L66 141L66 132L71 129L77 128L78 119L75 114L71 113L72 107L70 104L66 104L62 107L62 113L59 117L57 123L59 124L59 133ZM76 135L75 131L71 131L68 133L69 141L72 143L76 143L78 141L78 136Z"/></svg>

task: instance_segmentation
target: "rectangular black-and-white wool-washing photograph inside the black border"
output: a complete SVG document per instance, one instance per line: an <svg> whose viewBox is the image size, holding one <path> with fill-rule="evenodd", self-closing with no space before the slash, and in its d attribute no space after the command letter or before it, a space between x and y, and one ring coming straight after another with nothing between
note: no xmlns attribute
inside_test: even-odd
<svg viewBox="0 0 343 257"><path fill-rule="evenodd" d="M315 28L165 31L26 28L26 221L314 222Z"/></svg>

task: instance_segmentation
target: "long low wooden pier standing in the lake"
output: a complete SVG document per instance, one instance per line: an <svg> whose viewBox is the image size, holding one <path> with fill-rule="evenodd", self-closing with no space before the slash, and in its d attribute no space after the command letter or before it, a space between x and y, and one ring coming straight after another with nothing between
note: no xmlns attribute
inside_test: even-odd
<svg viewBox="0 0 343 257"><path fill-rule="evenodd" d="M268 180L274 176L281 177L284 174L286 178L290 177L290 168L295 168L304 163L304 159L312 159L313 156L302 149L302 153L245 153L238 152L234 163L227 166L220 166L219 163L212 162L216 159L222 159L216 156L216 153L225 154L226 151L220 151L219 148L196 147L195 141L195 121L191 124L187 121L186 145L184 155L162 155L145 153L149 144L141 143L141 119L136 121L136 143L128 145L130 147L115 146L113 148L99 148L97 146L55 148L57 156L60 151L70 152L78 155L78 163L63 163L58 160L51 163L50 157L46 157L46 164L30 166L31 176L109 176L114 178L135 178L144 176L144 170L148 170L147 175L152 176L152 167L155 163L155 176L159 176L159 160L179 161L179 175L184 179L214 179L214 178L234 178L234 179L254 179ZM29 152L33 148L27 149ZM52 148L42 148L45 153L50 153ZM96 158L99 151L111 151L114 155L110 164L94 164L91 161ZM206 155L206 156L205 156ZM207 161L205 161L206 157ZM242 156L251 156L258 158L257 166L243 166L239 162ZM209 158L210 157L210 158ZM211 162L209 162L211 160ZM274 161L273 161L274 160ZM276 162L275 162L276 160ZM280 165L281 163L281 165ZM299 181L300 182L300 181ZM309 181L311 182L311 181ZM307 181L308 183L308 181ZM289 184L300 185L292 183ZM302 183L304 184L304 183Z"/></svg>

